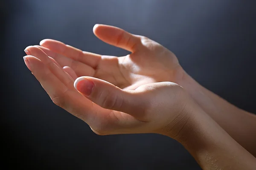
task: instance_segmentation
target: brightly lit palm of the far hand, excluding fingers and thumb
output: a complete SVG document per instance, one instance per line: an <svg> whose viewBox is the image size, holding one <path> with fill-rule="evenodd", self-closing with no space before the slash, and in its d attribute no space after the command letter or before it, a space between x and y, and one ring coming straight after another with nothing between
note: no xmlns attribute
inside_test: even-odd
<svg viewBox="0 0 256 170"><path fill-rule="evenodd" d="M153 82L175 82L180 68L176 56L157 42L148 41L142 51L127 56L102 56L93 77L127 90Z"/></svg>

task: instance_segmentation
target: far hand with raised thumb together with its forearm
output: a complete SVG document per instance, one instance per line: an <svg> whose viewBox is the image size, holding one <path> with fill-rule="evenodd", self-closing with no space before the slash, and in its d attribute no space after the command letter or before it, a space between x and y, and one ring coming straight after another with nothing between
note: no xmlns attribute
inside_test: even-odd
<svg viewBox="0 0 256 170"><path fill-rule="evenodd" d="M175 82L183 86L230 136L256 156L256 116L236 108L199 85L179 65L175 54L153 40L116 27L96 25L93 32L102 41L131 51L131 54L123 57L101 56L55 40L43 40L38 47L62 67L70 66L79 77L96 77L119 88L134 90L152 82ZM67 72L76 79L72 69Z"/></svg>

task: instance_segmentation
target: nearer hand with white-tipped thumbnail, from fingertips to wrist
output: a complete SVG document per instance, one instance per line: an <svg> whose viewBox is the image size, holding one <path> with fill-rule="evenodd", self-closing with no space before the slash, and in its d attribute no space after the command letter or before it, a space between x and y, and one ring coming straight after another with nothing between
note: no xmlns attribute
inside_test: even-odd
<svg viewBox="0 0 256 170"><path fill-rule="evenodd" d="M29 46L25 52L27 67L52 101L97 134L160 133L177 139L196 113L195 103L175 83L149 83L135 90L94 77L79 77L73 83L40 48Z"/></svg>

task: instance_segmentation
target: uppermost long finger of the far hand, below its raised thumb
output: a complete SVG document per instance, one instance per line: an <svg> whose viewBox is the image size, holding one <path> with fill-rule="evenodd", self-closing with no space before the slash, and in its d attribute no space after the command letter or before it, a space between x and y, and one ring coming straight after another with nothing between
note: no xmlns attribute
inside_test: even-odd
<svg viewBox="0 0 256 170"><path fill-rule="evenodd" d="M84 64L90 65L93 68L97 67L101 59L101 55L99 54L81 51L78 48L66 45L63 42L56 40L45 39L40 42L40 45L49 48L51 51L62 54L76 61L80 61Z"/></svg>

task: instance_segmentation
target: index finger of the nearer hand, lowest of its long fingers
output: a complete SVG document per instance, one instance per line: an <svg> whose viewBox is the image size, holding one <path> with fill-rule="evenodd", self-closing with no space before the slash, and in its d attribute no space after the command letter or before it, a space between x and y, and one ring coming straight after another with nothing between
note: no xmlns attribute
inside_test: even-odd
<svg viewBox="0 0 256 170"><path fill-rule="evenodd" d="M41 83L44 90L50 96L52 101L61 108L70 112L74 116L84 120L87 123L95 119L95 111L100 108L90 100L73 90L67 88L53 73L47 65L44 65L34 56L23 57L29 70Z"/></svg>

